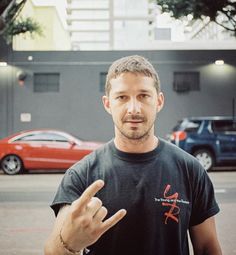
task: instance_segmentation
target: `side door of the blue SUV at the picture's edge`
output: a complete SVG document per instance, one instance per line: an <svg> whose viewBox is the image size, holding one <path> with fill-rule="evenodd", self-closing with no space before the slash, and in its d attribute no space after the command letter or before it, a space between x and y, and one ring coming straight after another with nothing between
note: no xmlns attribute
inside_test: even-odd
<svg viewBox="0 0 236 255"><path fill-rule="evenodd" d="M215 120L213 132L216 135L219 160L236 160L236 123L233 120Z"/></svg>

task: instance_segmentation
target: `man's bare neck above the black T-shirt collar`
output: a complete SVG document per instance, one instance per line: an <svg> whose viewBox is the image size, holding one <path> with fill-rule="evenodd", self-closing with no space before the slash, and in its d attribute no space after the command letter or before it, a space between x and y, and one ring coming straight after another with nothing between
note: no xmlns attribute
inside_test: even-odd
<svg viewBox="0 0 236 255"><path fill-rule="evenodd" d="M141 139L129 139L116 135L114 143L116 148L123 152L145 153L154 150L158 146L158 138L154 134Z"/></svg>

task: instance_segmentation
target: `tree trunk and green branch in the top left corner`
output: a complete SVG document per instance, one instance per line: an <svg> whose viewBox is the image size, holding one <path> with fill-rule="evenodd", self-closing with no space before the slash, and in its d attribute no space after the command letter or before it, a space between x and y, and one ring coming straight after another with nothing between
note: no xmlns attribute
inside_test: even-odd
<svg viewBox="0 0 236 255"><path fill-rule="evenodd" d="M32 18L19 18L27 0L2 0L0 2L0 35L9 44L13 36L30 32L31 35L42 35L40 25Z"/></svg>

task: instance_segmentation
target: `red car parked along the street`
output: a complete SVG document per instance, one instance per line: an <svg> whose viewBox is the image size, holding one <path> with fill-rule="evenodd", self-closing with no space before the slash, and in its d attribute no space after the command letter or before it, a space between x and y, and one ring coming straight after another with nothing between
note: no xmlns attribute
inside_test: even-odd
<svg viewBox="0 0 236 255"><path fill-rule="evenodd" d="M29 169L67 169L101 145L58 130L22 131L0 140L0 168L10 175Z"/></svg>

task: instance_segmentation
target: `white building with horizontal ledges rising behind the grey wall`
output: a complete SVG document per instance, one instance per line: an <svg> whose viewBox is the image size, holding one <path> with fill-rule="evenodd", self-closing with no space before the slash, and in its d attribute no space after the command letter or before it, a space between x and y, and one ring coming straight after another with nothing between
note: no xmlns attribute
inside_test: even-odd
<svg viewBox="0 0 236 255"><path fill-rule="evenodd" d="M148 0L67 0L73 50L144 49L155 17Z"/></svg>

